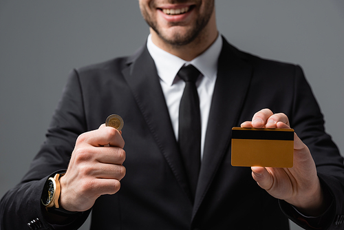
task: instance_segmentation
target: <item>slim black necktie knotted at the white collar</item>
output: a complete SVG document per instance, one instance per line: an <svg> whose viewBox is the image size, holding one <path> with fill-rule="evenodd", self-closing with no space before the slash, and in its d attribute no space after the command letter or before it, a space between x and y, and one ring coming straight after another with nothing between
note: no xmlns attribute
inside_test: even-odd
<svg viewBox="0 0 344 230"><path fill-rule="evenodd" d="M185 81L179 108L178 143L194 199L201 165L200 99L195 84L200 72L187 65L180 69L178 76Z"/></svg>

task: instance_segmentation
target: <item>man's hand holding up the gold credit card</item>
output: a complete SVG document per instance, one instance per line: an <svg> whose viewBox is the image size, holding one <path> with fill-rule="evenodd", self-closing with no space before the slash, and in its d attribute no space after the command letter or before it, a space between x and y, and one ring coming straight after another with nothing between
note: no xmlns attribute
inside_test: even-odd
<svg viewBox="0 0 344 230"><path fill-rule="evenodd" d="M241 127L289 128L289 121L286 114L273 114L270 109L262 109ZM294 205L304 215L318 216L327 208L310 150L297 134L294 133L294 167L251 169L252 177L261 188Z"/></svg>

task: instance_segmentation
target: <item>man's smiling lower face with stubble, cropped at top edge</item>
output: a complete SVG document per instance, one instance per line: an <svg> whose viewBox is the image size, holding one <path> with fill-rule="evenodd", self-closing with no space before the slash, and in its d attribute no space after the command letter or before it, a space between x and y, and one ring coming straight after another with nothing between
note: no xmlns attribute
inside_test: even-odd
<svg viewBox="0 0 344 230"><path fill-rule="evenodd" d="M164 43L173 46L187 45L206 36L208 23L215 17L214 0L139 0L140 10L153 30ZM215 20L214 24L215 24ZM154 34L155 33L155 34Z"/></svg>

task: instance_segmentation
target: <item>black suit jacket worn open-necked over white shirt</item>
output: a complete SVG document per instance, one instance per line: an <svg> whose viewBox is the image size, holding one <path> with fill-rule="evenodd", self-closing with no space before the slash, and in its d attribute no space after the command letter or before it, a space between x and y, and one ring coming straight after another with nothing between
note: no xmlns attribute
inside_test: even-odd
<svg viewBox="0 0 344 230"><path fill-rule="evenodd" d="M67 168L78 135L98 129L109 114L120 114L127 175L117 194L96 200L92 229L288 229L279 200L257 185L249 167L230 165L231 128L266 107L285 113L310 148L323 187L333 196L326 223L335 229L344 214L343 158L324 132L301 68L246 54L225 40L194 204L158 74L144 46L133 56L71 73L41 151L23 181L1 200L1 227L25 229L35 218L41 229L51 227L40 202L47 176ZM283 210L306 226L291 216L288 205ZM64 229L80 226L88 213Z"/></svg>

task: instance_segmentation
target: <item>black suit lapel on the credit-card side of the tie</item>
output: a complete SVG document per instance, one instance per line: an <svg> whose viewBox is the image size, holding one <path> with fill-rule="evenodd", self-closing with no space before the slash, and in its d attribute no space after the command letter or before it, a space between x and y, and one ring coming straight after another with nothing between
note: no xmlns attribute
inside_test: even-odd
<svg viewBox="0 0 344 230"><path fill-rule="evenodd" d="M200 170L193 217L200 207L217 169L230 146L231 129L237 125L252 70L242 54L225 39L219 56L217 80L209 114L204 157Z"/></svg>

